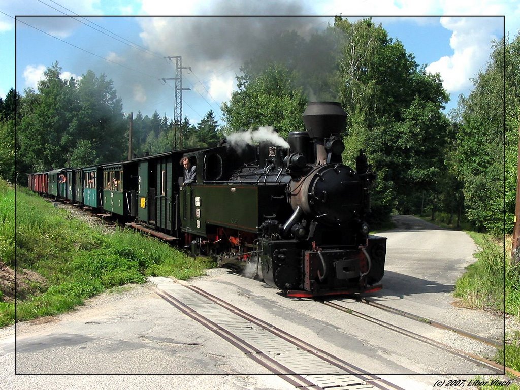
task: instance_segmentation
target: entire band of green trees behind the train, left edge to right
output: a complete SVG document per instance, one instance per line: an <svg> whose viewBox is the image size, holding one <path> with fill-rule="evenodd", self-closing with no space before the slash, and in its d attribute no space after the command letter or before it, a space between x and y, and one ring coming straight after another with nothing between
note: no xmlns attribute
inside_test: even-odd
<svg viewBox="0 0 520 390"><path fill-rule="evenodd" d="M276 45L265 45L278 50L267 55L259 50L262 54L243 64L236 92L222 105L224 125L211 110L197 125L185 118L177 127L157 111L151 117L138 112L134 153L213 146L223 134L264 125L287 136L304 129L301 114L308 100L336 100L347 112L344 161L354 165L363 149L378 174L373 220L382 222L392 212L427 213L454 224L466 218L478 229L499 233L505 211L505 228L511 230L519 36L495 43L487 66L473 79L473 92L459 97L449 118L439 75L427 73L371 19L352 23L336 17L308 38L287 32ZM128 118L112 82L92 71L66 81L60 73L56 63L37 91L20 97L11 90L0 99L3 177L15 179L15 123L20 173L126 159Z"/></svg>

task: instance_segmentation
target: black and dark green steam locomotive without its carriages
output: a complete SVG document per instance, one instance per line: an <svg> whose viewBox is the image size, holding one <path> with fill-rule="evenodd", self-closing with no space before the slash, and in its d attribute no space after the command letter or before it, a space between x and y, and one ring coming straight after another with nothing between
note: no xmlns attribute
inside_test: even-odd
<svg viewBox="0 0 520 390"><path fill-rule="evenodd" d="M342 162L340 103L310 102L303 121L289 148L228 140L186 153L197 181L179 187L185 244L289 296L379 290L386 238L366 223L375 175L361 151L355 170Z"/></svg>

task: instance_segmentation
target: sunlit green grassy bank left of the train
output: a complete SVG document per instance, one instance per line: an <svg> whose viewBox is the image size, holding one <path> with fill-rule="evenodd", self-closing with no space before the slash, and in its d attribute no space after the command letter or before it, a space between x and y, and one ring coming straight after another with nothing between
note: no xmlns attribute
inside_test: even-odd
<svg viewBox="0 0 520 390"><path fill-rule="evenodd" d="M14 189L0 180L0 259L15 265ZM166 243L132 230L103 234L100 229L24 189L17 191L16 264L38 272L47 282L34 283L32 294L19 296L16 320L56 315L85 298L147 276L178 279L214 267L208 258L190 257ZM37 284L37 285L36 285ZM0 327L14 323L15 305L2 302Z"/></svg>

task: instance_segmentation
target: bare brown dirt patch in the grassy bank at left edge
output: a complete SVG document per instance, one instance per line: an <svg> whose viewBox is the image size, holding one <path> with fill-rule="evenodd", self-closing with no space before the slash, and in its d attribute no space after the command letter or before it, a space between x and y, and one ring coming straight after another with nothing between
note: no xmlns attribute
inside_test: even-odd
<svg viewBox="0 0 520 390"><path fill-rule="evenodd" d="M16 282L16 289L15 289ZM18 298L35 295L47 288L47 279L30 269L15 270L4 262L0 262L0 301L12 302L16 291Z"/></svg>

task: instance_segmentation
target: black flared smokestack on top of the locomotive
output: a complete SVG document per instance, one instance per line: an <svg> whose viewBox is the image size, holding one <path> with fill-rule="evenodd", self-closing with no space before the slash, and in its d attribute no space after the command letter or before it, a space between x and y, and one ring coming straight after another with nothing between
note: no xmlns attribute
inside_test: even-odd
<svg viewBox="0 0 520 390"><path fill-rule="evenodd" d="M325 138L341 134L345 128L347 114L341 103L336 101L311 101L302 115L303 123L310 138L316 145L316 165L327 160Z"/></svg>

